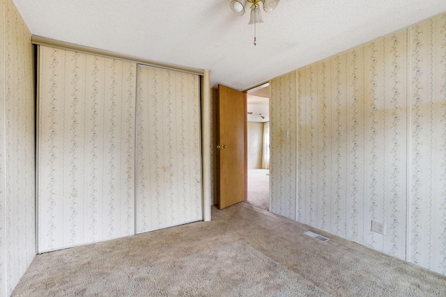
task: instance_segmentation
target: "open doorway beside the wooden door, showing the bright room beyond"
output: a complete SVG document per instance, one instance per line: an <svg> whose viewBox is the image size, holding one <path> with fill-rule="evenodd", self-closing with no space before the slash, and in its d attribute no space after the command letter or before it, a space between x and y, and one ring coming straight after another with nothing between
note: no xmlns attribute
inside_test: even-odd
<svg viewBox="0 0 446 297"><path fill-rule="evenodd" d="M247 202L270 209L270 86L247 91Z"/></svg>

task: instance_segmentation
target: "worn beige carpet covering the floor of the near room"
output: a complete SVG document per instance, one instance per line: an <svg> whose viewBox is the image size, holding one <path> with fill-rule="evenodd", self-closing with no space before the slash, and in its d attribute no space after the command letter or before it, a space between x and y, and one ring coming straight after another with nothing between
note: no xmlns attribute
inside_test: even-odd
<svg viewBox="0 0 446 297"><path fill-rule="evenodd" d="M446 278L247 203L38 255L13 296L446 296Z"/></svg>

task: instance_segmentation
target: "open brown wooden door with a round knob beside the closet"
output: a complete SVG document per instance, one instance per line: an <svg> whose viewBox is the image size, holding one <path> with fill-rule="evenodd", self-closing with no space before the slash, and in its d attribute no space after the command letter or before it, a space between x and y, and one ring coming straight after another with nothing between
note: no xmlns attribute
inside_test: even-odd
<svg viewBox="0 0 446 297"><path fill-rule="evenodd" d="M246 200L246 94L218 86L217 200L223 209Z"/></svg>

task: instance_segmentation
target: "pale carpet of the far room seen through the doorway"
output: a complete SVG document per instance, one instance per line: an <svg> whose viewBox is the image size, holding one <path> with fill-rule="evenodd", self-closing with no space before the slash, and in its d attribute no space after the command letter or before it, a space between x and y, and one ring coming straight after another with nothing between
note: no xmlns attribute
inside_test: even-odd
<svg viewBox="0 0 446 297"><path fill-rule="evenodd" d="M247 202L261 209L270 209L270 170L248 170Z"/></svg>

